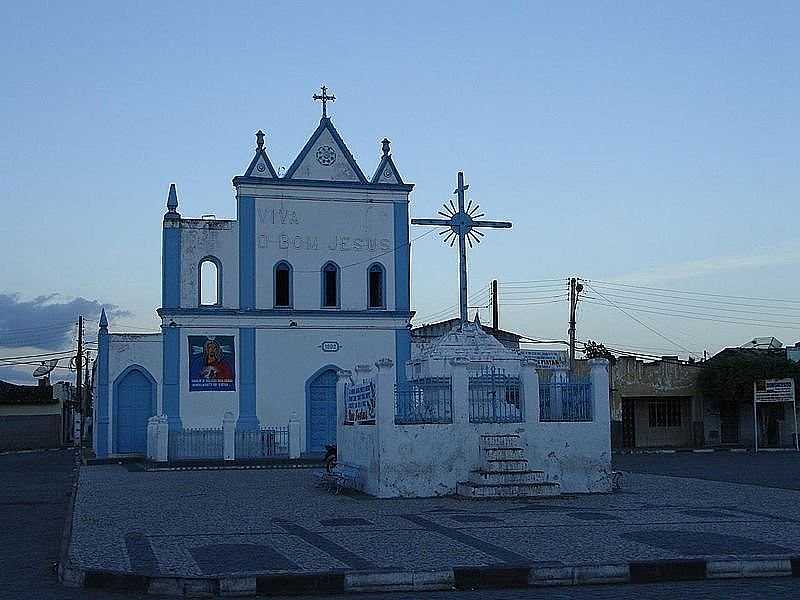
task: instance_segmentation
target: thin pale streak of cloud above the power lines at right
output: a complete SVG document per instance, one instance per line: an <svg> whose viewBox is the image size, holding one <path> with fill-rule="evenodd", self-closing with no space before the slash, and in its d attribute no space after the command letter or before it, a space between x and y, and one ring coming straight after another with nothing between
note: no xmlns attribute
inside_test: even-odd
<svg viewBox="0 0 800 600"><path fill-rule="evenodd" d="M646 285L663 281L705 277L731 271L758 269L800 263L800 246L772 248L745 256L717 256L690 260L672 265L634 271L611 279L611 282Z"/></svg>

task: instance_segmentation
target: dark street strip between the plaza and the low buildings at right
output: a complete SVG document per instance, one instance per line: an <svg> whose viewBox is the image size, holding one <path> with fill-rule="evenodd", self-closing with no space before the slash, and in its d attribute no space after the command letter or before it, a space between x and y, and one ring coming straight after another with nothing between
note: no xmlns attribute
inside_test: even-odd
<svg viewBox="0 0 800 600"><path fill-rule="evenodd" d="M798 452L675 452L614 455L614 468L800 490Z"/></svg>

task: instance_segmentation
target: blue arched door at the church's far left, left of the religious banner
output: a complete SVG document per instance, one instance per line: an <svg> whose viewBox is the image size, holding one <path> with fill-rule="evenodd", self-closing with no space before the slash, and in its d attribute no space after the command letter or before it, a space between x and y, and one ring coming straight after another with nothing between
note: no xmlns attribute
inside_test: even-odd
<svg viewBox="0 0 800 600"><path fill-rule="evenodd" d="M147 453L147 419L153 416L153 384L136 369L117 384L118 453Z"/></svg>

